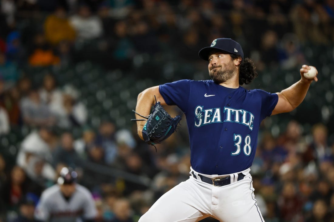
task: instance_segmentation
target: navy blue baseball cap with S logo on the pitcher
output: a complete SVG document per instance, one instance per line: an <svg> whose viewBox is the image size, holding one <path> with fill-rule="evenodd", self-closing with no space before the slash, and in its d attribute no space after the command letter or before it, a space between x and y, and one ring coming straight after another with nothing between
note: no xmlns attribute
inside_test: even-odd
<svg viewBox="0 0 334 222"><path fill-rule="evenodd" d="M234 41L233 39L228 39L228 38L219 38L213 40L210 47L202 48L198 52L198 55L201 59L209 61L209 56L211 52L214 50L222 50L235 55L239 55L243 60L243 51L241 45L236 41Z"/></svg>

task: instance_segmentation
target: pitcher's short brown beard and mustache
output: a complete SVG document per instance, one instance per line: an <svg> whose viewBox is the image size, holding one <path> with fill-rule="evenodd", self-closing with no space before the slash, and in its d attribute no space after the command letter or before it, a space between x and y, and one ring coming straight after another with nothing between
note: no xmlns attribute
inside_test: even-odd
<svg viewBox="0 0 334 222"><path fill-rule="evenodd" d="M211 70L209 70L209 76L215 83L220 84L234 77L236 74L235 71L235 67L232 66L232 64L226 65L224 67L212 66Z"/></svg>

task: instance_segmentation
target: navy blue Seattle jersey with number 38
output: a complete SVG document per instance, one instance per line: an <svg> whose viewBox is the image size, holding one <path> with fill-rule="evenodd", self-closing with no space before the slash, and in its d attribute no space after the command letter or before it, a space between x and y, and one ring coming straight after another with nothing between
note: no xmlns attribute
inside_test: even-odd
<svg viewBox="0 0 334 222"><path fill-rule="evenodd" d="M180 80L159 86L168 105L186 115L192 168L203 174L243 171L254 160L261 121L270 116L278 95L231 89L212 80Z"/></svg>

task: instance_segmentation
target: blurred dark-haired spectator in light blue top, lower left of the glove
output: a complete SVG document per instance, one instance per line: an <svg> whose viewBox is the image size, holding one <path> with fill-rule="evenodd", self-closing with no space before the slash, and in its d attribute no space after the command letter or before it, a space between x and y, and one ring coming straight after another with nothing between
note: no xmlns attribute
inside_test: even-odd
<svg viewBox="0 0 334 222"><path fill-rule="evenodd" d="M117 156L117 146L115 143L115 125L111 122L103 122L96 135L96 143L100 144L105 152L105 162L112 164Z"/></svg>

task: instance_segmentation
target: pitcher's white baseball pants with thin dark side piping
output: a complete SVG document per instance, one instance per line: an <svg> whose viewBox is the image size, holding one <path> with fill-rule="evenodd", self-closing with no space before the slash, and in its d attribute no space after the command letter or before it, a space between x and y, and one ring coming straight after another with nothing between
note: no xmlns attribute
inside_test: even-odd
<svg viewBox="0 0 334 222"><path fill-rule="evenodd" d="M245 177L239 181L235 176L240 172L201 174L210 178L231 177L231 184L218 187L202 182L192 170L196 178L190 174L188 180L162 195L138 222L196 222L210 216L221 222L264 222L249 171L242 171Z"/></svg>

